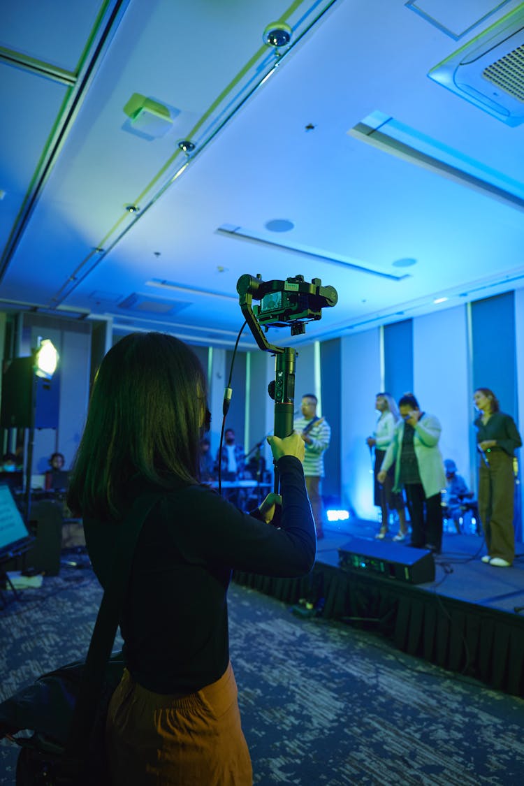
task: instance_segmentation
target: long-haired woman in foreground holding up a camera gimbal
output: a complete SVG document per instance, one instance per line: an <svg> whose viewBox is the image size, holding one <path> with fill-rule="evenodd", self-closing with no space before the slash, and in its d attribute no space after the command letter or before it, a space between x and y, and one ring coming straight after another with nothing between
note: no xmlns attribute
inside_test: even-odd
<svg viewBox="0 0 524 786"><path fill-rule="evenodd" d="M120 620L126 670L106 725L115 786L252 783L229 663L231 571L293 577L314 562L299 435L268 438L281 482L277 528L269 526L277 495L250 516L200 484L206 422L203 370L178 339L134 333L105 356L68 493L102 586L126 512L159 493Z"/></svg>

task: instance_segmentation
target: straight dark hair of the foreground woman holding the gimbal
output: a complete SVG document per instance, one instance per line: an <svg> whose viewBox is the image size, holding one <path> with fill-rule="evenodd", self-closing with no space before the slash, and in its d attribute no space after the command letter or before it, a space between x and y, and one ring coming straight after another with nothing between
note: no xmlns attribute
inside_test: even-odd
<svg viewBox="0 0 524 786"><path fill-rule="evenodd" d="M165 488L197 483L206 380L196 354L165 333L130 333L93 383L68 491L76 514L117 520L137 476Z"/></svg>

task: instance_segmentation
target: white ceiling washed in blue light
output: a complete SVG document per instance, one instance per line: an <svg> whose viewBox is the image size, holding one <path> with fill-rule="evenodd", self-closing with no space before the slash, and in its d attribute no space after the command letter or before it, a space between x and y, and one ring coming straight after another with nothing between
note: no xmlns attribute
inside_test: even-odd
<svg viewBox="0 0 524 786"><path fill-rule="evenodd" d="M27 51L31 43L37 57L46 28L29 13L34 4L19 5L24 30L13 22L8 37ZM524 18L524 3L493 2L493 14L464 41L519 8ZM76 20L64 9L71 40L56 47L63 67L87 42L98 10L86 2ZM289 47L263 43L275 20L291 27ZM53 38L53 14L46 24ZM338 289L339 303L300 343L427 313L435 293L456 305L504 282L522 285L522 211L348 133L382 112L456 160L470 157L524 188L524 127L508 127L428 78L464 41L404 0L130 0L111 34L8 255L0 299L112 316L137 329L172 324L195 340L209 329L219 344L231 343L242 322L241 275L320 277ZM12 118L0 130L9 134L0 145L5 243L16 212L11 193L20 204L30 187L64 87L0 68L9 71L0 95ZM179 110L165 135L130 133L137 97ZM188 138L189 155L178 146ZM131 204L140 211L126 211ZM268 229L275 219L290 230ZM224 225L251 240L218 232ZM405 258L415 265L394 266ZM187 306L171 321L150 319L121 307L132 295Z"/></svg>

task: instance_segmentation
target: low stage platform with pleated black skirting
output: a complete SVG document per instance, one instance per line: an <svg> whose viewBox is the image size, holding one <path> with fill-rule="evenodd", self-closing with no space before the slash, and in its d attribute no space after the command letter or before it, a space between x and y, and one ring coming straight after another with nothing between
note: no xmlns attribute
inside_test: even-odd
<svg viewBox="0 0 524 786"><path fill-rule="evenodd" d="M306 578L267 578L236 571L233 580L306 608L310 615L339 619L386 635L403 652L493 688L524 696L524 544L513 567L483 563L486 545L475 534L445 533L434 556L432 582L412 585L376 572L339 565L339 549L351 538L376 545L374 522L354 520L326 530L317 561ZM397 546L385 538L387 553Z"/></svg>

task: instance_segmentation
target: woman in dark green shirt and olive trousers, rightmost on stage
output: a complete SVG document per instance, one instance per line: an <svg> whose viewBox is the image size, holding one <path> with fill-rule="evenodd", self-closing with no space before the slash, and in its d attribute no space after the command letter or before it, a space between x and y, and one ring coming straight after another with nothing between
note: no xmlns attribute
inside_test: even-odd
<svg viewBox="0 0 524 786"><path fill-rule="evenodd" d="M515 559L513 459L522 439L513 418L500 412L497 396L489 387L478 387L473 401L479 413L475 420L480 454L478 513L488 549L482 562L510 567Z"/></svg>

